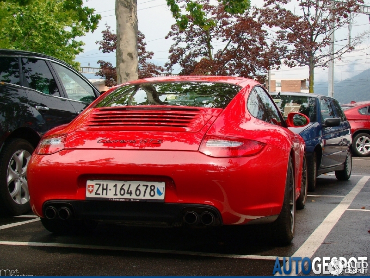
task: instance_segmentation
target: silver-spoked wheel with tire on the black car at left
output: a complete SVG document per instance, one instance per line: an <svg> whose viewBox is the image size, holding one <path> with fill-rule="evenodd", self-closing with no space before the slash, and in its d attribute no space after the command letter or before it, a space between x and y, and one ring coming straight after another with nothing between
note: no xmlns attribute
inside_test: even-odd
<svg viewBox="0 0 370 278"><path fill-rule="evenodd" d="M0 207L7 215L30 210L27 166L33 146L24 139L11 139L0 154Z"/></svg>

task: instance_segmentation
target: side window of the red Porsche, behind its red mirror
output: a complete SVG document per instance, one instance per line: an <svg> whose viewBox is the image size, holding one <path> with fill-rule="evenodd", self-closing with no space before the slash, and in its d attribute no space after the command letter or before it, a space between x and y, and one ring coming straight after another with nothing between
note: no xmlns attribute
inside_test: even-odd
<svg viewBox="0 0 370 278"><path fill-rule="evenodd" d="M279 124L280 117L272 100L261 87L254 87L250 92L247 102L249 113L265 122Z"/></svg>

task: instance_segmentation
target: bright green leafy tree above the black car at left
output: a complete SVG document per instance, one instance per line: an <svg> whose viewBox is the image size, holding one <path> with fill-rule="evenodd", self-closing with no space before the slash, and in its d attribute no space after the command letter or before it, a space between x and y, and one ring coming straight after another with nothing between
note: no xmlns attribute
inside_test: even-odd
<svg viewBox="0 0 370 278"><path fill-rule="evenodd" d="M76 37L97 28L101 16L80 0L0 0L0 47L47 54L78 68Z"/></svg>

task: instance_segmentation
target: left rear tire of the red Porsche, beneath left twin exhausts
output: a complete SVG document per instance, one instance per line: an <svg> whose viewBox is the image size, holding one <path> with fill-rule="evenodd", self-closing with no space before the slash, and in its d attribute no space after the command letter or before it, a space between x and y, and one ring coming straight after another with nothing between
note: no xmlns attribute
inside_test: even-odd
<svg viewBox="0 0 370 278"><path fill-rule="evenodd" d="M49 232L60 235L91 233L98 225L98 222L93 220L61 220L58 218L40 218L40 220L45 229Z"/></svg>

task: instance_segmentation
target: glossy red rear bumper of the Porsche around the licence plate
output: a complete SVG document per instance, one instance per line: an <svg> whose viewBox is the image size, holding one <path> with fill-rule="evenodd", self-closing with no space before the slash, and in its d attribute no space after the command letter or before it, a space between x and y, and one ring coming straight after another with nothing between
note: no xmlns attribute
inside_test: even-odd
<svg viewBox="0 0 370 278"><path fill-rule="evenodd" d="M273 158L273 159L272 159ZM194 151L62 150L33 155L27 179L31 208L74 203L77 218L112 221L181 221L185 206L209 206L220 223L247 224L280 213L289 153L267 145L258 155L212 158ZM86 181L164 181L165 202L85 200ZM251 222L251 223L252 223Z"/></svg>

